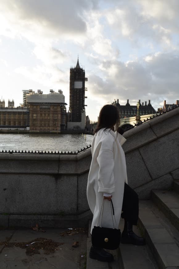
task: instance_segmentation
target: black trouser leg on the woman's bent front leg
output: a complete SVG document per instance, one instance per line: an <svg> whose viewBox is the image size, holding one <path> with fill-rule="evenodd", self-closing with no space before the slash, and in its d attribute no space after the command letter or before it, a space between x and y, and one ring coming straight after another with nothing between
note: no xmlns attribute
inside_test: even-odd
<svg viewBox="0 0 179 269"><path fill-rule="evenodd" d="M125 183L123 207L121 217L133 225L137 225L139 217L139 198L138 194Z"/></svg>

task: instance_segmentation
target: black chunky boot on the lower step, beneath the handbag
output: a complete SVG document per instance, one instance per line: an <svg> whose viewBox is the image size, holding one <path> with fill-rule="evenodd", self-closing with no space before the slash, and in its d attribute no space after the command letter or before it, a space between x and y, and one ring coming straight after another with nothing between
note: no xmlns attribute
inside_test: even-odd
<svg viewBox="0 0 179 269"><path fill-rule="evenodd" d="M90 258L101 262L112 262L114 260L112 254L95 246L92 246L90 249Z"/></svg>

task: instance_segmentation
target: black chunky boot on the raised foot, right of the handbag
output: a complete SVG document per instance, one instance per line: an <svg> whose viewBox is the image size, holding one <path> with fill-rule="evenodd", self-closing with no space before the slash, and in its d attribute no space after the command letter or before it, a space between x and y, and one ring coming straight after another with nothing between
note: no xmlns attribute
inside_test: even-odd
<svg viewBox="0 0 179 269"><path fill-rule="evenodd" d="M124 230L121 234L121 243L122 244L133 244L135 246L144 246L146 244L145 239L137 236L132 231L132 224L124 220Z"/></svg>

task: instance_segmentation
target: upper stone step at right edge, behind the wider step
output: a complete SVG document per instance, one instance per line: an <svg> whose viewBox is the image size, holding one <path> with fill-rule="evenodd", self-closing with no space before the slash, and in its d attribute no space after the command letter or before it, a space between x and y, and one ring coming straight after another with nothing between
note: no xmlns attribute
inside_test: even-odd
<svg viewBox="0 0 179 269"><path fill-rule="evenodd" d="M152 201L179 231L179 194L174 190L153 190Z"/></svg>

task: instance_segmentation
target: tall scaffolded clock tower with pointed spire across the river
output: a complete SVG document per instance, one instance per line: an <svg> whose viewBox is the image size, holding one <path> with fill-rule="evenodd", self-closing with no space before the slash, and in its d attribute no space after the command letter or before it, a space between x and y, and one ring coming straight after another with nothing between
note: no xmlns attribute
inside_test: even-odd
<svg viewBox="0 0 179 269"><path fill-rule="evenodd" d="M70 102L68 112L68 129L85 129L85 70L80 67L79 61L77 65L70 68Z"/></svg>

